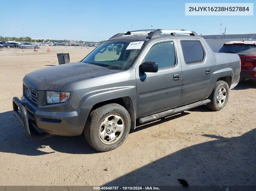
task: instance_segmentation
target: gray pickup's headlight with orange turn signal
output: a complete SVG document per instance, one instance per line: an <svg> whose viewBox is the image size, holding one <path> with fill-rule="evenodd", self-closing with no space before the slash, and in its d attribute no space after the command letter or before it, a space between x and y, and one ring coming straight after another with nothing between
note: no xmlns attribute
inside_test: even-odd
<svg viewBox="0 0 256 191"><path fill-rule="evenodd" d="M46 91L47 103L63 103L68 100L70 92Z"/></svg>

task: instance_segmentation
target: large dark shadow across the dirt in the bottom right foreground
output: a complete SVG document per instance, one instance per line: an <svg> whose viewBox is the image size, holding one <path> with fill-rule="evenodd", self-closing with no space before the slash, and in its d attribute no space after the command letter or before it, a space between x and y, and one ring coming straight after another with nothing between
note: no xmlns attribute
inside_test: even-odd
<svg viewBox="0 0 256 191"><path fill-rule="evenodd" d="M187 180L189 186L256 185L256 129L239 137L201 136L214 140L181 149L104 186L172 185L180 186L179 190L193 188L182 187L177 181L181 178Z"/></svg>

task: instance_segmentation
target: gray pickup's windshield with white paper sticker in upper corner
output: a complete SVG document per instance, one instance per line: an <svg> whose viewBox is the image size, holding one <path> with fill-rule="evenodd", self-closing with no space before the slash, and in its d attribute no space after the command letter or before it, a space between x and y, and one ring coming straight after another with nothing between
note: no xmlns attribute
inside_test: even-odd
<svg viewBox="0 0 256 191"><path fill-rule="evenodd" d="M81 62L115 70L127 70L139 55L146 41L108 40L94 49Z"/></svg>

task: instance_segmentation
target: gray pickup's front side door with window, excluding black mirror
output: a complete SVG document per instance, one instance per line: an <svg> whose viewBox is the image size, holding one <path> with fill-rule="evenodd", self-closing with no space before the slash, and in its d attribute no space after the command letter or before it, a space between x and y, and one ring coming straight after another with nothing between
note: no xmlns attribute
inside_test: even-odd
<svg viewBox="0 0 256 191"><path fill-rule="evenodd" d="M137 108L139 117L177 107L181 87L181 63L177 41L160 40L145 52L145 61L158 63L158 72L141 73L136 67Z"/></svg>

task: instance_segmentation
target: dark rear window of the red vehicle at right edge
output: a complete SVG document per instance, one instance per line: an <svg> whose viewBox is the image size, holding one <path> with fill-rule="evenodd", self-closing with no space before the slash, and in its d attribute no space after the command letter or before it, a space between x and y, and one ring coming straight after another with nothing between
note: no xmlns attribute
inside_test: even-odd
<svg viewBox="0 0 256 191"><path fill-rule="evenodd" d="M219 53L256 53L256 46L250 44L226 44L222 46L222 48L219 50Z"/></svg>

